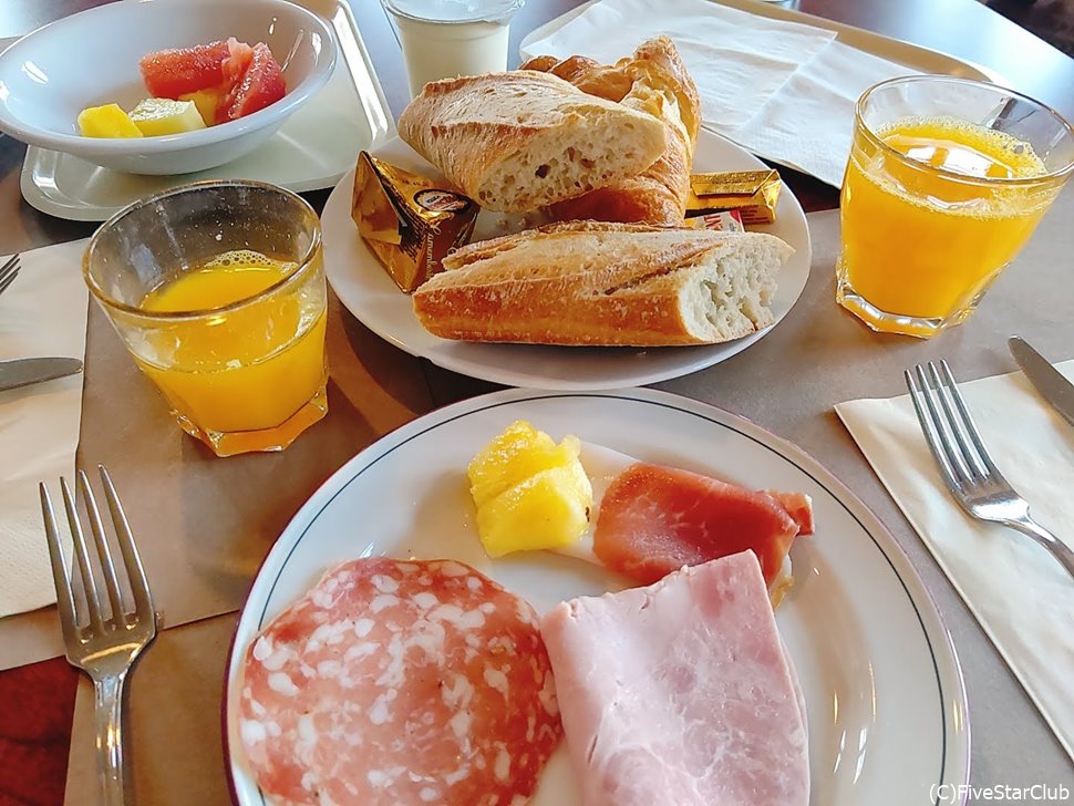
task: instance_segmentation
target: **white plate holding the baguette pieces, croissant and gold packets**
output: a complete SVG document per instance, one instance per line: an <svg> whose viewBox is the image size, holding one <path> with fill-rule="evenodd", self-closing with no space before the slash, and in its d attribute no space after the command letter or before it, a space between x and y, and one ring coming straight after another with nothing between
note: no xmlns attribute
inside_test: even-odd
<svg viewBox="0 0 1074 806"><path fill-rule="evenodd" d="M389 163L438 176L401 140L385 143L375 153ZM695 173L764 167L756 157L717 134L702 131L698 138L693 161ZM779 273L778 290L772 301L776 323L764 330L723 344L644 349L450 341L433 335L421 326L410 296L399 290L359 236L358 227L351 220L353 182L353 172L343 177L321 215L324 268L343 306L366 328L412 355L426 358L447 370L509 386L571 391L642 386L711 366L742 352L776 327L798 299L809 277L809 228L798 200L784 187L775 224L751 227L777 235L795 249ZM483 211L477 218L474 240L495 238L509 229L520 228L515 219Z"/></svg>

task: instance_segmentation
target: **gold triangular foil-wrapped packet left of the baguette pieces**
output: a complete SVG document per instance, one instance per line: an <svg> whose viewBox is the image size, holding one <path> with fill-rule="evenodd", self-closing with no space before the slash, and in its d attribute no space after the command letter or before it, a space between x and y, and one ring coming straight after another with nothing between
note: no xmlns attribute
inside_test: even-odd
<svg viewBox="0 0 1074 806"><path fill-rule="evenodd" d="M410 293L469 241L478 207L462 194L362 152L351 218L388 273Z"/></svg>

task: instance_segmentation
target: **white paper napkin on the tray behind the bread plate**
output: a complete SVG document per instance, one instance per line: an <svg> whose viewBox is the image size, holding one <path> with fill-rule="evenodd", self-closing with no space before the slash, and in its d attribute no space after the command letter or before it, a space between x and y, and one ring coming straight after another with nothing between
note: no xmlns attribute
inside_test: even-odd
<svg viewBox="0 0 1074 806"><path fill-rule="evenodd" d="M665 33L701 94L706 128L758 156L838 187L850 153L854 105L879 81L915 71L835 41L812 25L710 0L600 0L524 58L578 53L615 62Z"/></svg>

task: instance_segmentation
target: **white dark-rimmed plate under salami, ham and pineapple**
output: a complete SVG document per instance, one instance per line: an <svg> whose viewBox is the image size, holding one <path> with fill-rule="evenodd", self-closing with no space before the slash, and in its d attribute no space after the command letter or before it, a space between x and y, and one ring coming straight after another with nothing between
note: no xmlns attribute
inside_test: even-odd
<svg viewBox="0 0 1074 806"><path fill-rule="evenodd" d="M616 587L613 575L549 552L489 560L474 533L471 457L517 418L639 458L751 488L813 496L816 534L794 544L795 586L777 611L809 722L815 806L933 804L969 779L965 693L954 649L891 535L794 445L712 406L653 390L505 390L427 414L364 450L313 494L254 581L228 662L228 768L242 806L259 793L238 738L242 659L258 631L330 566L385 555L455 558L544 612ZM579 806L561 746L531 806ZM775 805L773 805L775 806Z"/></svg>

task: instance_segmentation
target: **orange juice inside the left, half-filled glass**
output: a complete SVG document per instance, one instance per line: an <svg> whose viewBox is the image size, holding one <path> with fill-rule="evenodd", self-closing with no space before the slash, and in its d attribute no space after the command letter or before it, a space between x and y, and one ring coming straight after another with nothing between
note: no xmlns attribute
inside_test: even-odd
<svg viewBox="0 0 1074 806"><path fill-rule="evenodd" d="M260 432L240 440L242 450L268 450L293 438L272 430L293 424L300 426L297 434L323 416L323 292L310 300L308 283L299 280L295 289L228 308L261 294L295 269L258 252L231 251L184 271L143 300L147 312L197 312L155 328L135 356L190 433L211 441ZM300 422L292 423L296 417ZM283 444L251 444L280 438Z"/></svg>

